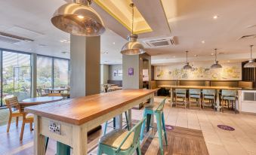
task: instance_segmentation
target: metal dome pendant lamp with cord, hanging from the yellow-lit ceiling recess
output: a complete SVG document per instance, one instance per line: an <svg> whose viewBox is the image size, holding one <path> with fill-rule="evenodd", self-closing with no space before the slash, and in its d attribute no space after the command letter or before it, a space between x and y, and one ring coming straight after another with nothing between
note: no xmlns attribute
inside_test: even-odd
<svg viewBox="0 0 256 155"><path fill-rule="evenodd" d="M137 35L134 34L134 4L131 3L132 8L132 26L131 26L131 35L128 35L128 42L122 47L121 53L125 55L138 55L145 53L143 44L140 44L137 41Z"/></svg>

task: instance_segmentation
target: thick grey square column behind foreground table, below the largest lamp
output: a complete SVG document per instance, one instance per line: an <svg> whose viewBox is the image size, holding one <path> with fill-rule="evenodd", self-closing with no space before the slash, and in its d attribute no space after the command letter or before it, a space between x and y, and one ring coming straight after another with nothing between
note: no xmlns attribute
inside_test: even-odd
<svg viewBox="0 0 256 155"><path fill-rule="evenodd" d="M100 36L70 35L70 96L100 93Z"/></svg>

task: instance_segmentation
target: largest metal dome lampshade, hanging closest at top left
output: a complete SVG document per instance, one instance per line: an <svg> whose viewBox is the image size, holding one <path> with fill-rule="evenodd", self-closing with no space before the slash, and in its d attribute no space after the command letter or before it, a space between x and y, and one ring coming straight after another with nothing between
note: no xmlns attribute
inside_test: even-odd
<svg viewBox="0 0 256 155"><path fill-rule="evenodd" d="M98 36L105 32L99 14L90 7L92 0L74 0L60 6L51 18L57 29L72 35Z"/></svg>

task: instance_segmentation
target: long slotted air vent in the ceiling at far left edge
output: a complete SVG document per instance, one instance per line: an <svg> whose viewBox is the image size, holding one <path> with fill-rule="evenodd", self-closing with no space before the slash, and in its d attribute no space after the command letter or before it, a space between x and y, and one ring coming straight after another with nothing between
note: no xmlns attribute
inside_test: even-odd
<svg viewBox="0 0 256 155"><path fill-rule="evenodd" d="M22 41L26 41L26 42L30 42L30 41L34 41L32 39L29 38L23 38L17 35L11 35L5 32L0 32L0 41L2 42L8 42L11 44L19 44Z"/></svg>

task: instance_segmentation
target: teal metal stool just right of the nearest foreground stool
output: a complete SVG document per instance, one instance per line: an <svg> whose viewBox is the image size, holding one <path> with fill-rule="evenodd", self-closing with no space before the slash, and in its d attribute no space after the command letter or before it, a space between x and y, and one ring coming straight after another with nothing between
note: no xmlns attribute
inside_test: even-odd
<svg viewBox="0 0 256 155"><path fill-rule="evenodd" d="M165 144L168 145L166 129L165 129L165 115L163 112L164 105L165 105L165 99L163 99L159 105L156 105L156 106L150 105L148 107L145 107L144 112L143 112L143 117L147 117L147 128L148 129L149 129L149 127L153 127L153 126L150 126L151 116L153 114L156 116L157 132L159 135L159 145L160 145L161 154L164 153L164 148L163 148L163 144L162 144L162 130L164 131L164 134L165 134ZM140 141L143 140L144 129L145 129L145 122L143 123L142 128L141 128ZM148 129L147 129L147 132L148 132Z"/></svg>

